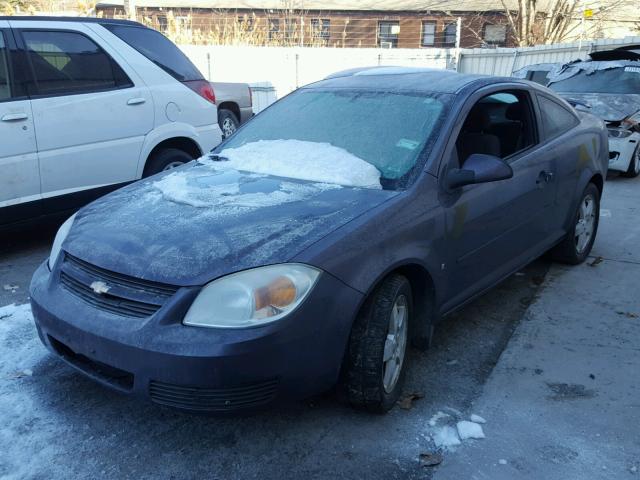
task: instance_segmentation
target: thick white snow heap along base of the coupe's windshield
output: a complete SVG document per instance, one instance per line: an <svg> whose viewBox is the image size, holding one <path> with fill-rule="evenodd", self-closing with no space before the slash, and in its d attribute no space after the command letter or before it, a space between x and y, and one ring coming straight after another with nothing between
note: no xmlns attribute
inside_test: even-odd
<svg viewBox="0 0 640 480"><path fill-rule="evenodd" d="M260 140L225 148L219 156L245 172L348 187L382 188L376 167L343 148L302 140Z"/></svg>

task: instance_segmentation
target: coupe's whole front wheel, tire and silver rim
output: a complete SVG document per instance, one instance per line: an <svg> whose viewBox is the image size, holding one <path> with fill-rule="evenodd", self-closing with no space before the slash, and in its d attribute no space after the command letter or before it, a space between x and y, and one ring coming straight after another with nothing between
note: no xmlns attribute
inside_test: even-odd
<svg viewBox="0 0 640 480"><path fill-rule="evenodd" d="M398 401L412 314L411 286L402 275L387 277L365 302L351 331L344 377L354 407L384 413Z"/></svg>

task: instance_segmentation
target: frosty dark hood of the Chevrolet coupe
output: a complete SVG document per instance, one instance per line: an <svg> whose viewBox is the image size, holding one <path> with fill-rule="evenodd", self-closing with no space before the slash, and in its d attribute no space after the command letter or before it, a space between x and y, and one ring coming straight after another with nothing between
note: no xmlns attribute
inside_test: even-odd
<svg viewBox="0 0 640 480"><path fill-rule="evenodd" d="M201 285L286 262L395 195L192 162L83 208L63 249L133 277Z"/></svg>

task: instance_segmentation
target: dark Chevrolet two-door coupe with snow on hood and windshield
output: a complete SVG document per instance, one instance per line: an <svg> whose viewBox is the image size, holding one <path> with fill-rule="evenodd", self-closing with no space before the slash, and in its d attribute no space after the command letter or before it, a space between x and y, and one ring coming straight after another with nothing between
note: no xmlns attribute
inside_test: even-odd
<svg viewBox="0 0 640 480"><path fill-rule="evenodd" d="M409 345L548 250L591 250L602 121L524 80L373 68L288 95L210 154L58 232L42 342L171 407L255 409L340 384L398 399Z"/></svg>

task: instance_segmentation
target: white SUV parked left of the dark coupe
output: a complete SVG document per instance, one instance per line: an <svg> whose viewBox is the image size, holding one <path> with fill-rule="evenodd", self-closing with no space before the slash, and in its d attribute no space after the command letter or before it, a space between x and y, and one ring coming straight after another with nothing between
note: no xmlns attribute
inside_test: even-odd
<svg viewBox="0 0 640 480"><path fill-rule="evenodd" d="M211 150L214 102L189 59L138 23L0 17L0 226Z"/></svg>

